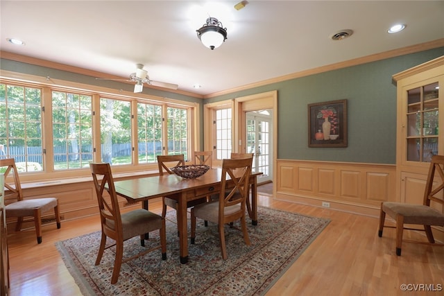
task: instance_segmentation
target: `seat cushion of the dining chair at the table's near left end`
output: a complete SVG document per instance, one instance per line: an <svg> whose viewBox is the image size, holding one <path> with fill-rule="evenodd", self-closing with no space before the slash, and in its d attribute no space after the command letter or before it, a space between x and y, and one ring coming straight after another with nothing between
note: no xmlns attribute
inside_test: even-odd
<svg viewBox="0 0 444 296"><path fill-rule="evenodd" d="M162 217L146 209L136 209L121 214L121 219L123 240L162 228Z"/></svg>

